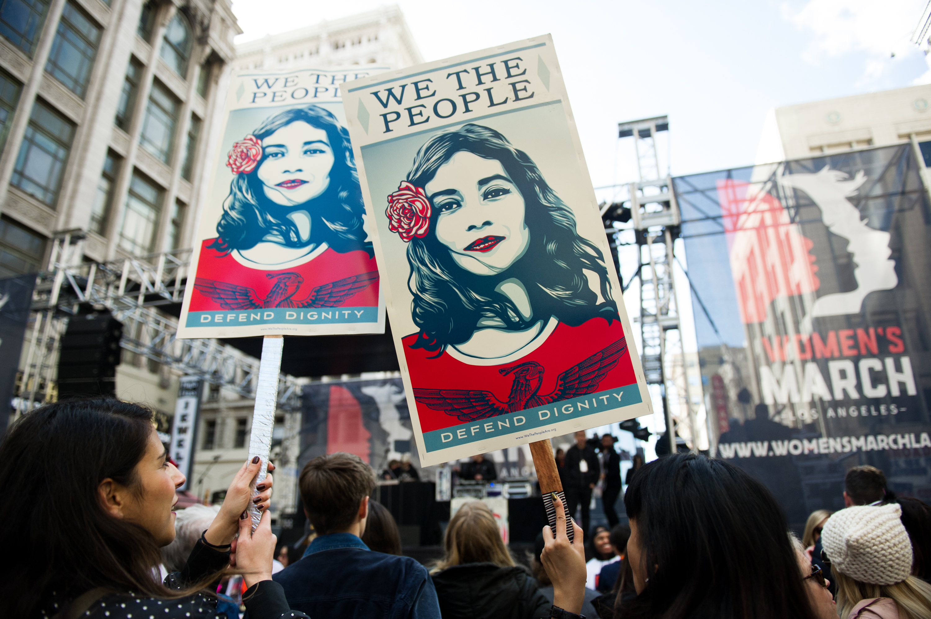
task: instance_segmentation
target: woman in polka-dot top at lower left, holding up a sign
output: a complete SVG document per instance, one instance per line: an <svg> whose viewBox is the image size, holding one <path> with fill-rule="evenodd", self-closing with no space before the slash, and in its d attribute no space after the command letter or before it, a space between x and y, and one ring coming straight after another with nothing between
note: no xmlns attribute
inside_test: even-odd
<svg viewBox="0 0 931 619"><path fill-rule="evenodd" d="M202 587L233 564L250 586L244 599L254 616L304 617L290 613L271 581L271 476L256 488L264 513L255 532L245 512L260 468L258 458L242 466L182 572L163 584L159 547L174 539L184 476L152 410L95 398L26 413L0 443L0 616L212 619L216 598Z"/></svg>

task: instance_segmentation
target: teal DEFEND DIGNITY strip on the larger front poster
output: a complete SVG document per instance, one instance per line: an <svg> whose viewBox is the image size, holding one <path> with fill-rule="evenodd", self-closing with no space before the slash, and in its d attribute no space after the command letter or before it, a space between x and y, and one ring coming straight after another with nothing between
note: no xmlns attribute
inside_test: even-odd
<svg viewBox="0 0 931 619"><path fill-rule="evenodd" d="M511 435L515 439L539 435L538 438L533 438L533 440L543 440L547 434L556 432L555 428L551 431L547 429L528 432L528 430L535 430L536 428L569 419L578 419L605 410L639 404L641 401L640 388L637 384L628 384L624 387L599 391L583 397L571 397L559 402L552 402L545 407L508 412L504 415L489 417L470 424L452 425L441 430L425 432L424 445L426 451L439 451L502 434Z"/></svg>

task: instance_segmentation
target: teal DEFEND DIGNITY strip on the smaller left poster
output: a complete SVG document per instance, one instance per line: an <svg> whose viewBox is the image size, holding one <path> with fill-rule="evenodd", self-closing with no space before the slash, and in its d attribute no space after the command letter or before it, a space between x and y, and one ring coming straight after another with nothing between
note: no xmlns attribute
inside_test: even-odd
<svg viewBox="0 0 931 619"><path fill-rule="evenodd" d="M270 307L245 312L189 312L186 327L246 325L332 325L347 322L378 322L377 307Z"/></svg>

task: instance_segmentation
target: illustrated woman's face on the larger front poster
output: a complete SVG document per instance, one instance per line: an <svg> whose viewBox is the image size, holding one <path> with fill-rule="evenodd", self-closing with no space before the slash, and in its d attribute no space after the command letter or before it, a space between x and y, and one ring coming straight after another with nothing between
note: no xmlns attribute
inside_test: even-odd
<svg viewBox="0 0 931 619"><path fill-rule="evenodd" d="M439 211L439 242L467 271L501 273L527 251L524 199L501 162L461 151L439 167L424 189Z"/></svg>

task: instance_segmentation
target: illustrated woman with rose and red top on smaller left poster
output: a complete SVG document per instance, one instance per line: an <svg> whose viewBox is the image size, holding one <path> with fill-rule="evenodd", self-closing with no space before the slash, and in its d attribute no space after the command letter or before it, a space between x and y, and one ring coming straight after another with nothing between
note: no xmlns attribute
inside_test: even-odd
<svg viewBox="0 0 931 619"><path fill-rule="evenodd" d="M378 305L356 163L333 114L279 112L237 141L226 165L234 178L217 236L203 242L191 311ZM312 295L348 277L329 303ZM236 294L243 282L253 299Z"/></svg>

